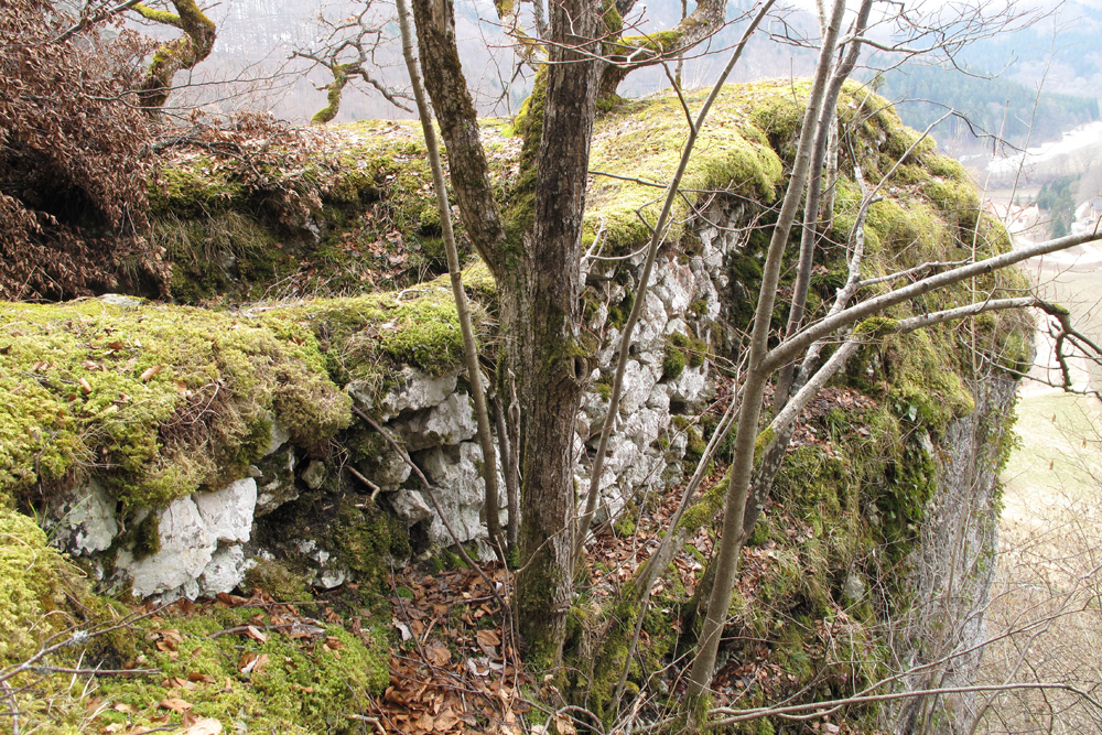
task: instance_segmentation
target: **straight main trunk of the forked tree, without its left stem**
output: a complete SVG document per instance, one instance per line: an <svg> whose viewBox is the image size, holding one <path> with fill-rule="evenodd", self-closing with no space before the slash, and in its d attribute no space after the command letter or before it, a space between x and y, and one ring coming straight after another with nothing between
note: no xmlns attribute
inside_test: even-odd
<svg viewBox="0 0 1102 735"><path fill-rule="evenodd" d="M499 289L525 408L517 610L537 664L559 660L573 602L574 422L595 352L579 328L582 218L599 82L597 62L580 51L595 50L599 10L593 0L551 6L533 220L519 268L508 269L511 283Z"/></svg>

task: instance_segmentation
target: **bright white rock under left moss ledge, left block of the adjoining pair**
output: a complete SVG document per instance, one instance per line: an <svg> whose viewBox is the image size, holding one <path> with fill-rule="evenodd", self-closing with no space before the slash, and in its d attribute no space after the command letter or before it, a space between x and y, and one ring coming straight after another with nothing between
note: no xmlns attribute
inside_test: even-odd
<svg viewBox="0 0 1102 735"><path fill-rule="evenodd" d="M207 531L198 506L191 497L174 500L161 510L159 534L161 549L144 559L134 559L129 550L119 552L116 566L130 575L134 595L165 595L175 598L198 595L198 577L218 548Z"/></svg>

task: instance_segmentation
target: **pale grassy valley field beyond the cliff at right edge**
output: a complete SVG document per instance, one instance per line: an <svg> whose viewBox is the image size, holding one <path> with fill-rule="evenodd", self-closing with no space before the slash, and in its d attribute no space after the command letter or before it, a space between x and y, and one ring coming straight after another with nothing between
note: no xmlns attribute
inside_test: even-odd
<svg viewBox="0 0 1102 735"><path fill-rule="evenodd" d="M1102 337L1102 264L1093 253L1033 263L1042 293ZM1044 327L1044 325L1041 325ZM1038 332L1039 378L1051 344ZM1050 360L1050 358L1049 358ZM1102 389L1102 368L1072 364L1079 386ZM1102 711L1082 695L1102 688L1102 403L1041 382L1020 389L1020 446L1004 472L1000 564L988 612L994 641L982 683L1045 682L988 701L980 732L1102 732ZM1095 702L1098 700L1095 699Z"/></svg>

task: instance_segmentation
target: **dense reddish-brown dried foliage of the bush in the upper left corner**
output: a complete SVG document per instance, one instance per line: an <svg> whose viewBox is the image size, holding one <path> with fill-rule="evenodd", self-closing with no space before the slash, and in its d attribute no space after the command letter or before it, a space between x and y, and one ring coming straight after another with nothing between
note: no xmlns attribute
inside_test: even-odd
<svg viewBox="0 0 1102 735"><path fill-rule="evenodd" d="M166 289L142 236L151 130L132 90L149 46L95 28L60 41L78 20L50 0L0 0L2 299Z"/></svg>

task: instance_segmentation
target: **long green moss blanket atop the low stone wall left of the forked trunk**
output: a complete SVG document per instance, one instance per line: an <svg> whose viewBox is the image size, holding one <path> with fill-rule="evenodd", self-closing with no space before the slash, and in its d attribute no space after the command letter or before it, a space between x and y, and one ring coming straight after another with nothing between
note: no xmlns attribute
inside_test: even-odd
<svg viewBox="0 0 1102 735"><path fill-rule="evenodd" d="M126 508L245 475L272 422L302 446L348 425L338 386L460 364L444 282L261 315L91 300L0 305L0 495L62 488L96 456Z"/></svg>

